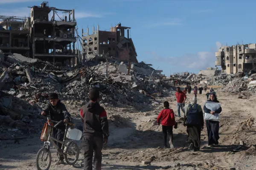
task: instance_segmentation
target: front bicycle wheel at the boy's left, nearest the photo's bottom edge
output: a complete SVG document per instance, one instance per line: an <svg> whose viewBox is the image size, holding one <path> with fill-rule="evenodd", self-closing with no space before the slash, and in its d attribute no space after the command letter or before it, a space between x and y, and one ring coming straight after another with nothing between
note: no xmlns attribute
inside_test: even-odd
<svg viewBox="0 0 256 170"><path fill-rule="evenodd" d="M52 163L52 155L50 150L43 147L38 150L36 155L36 167L38 170L49 170Z"/></svg>

